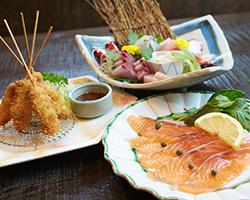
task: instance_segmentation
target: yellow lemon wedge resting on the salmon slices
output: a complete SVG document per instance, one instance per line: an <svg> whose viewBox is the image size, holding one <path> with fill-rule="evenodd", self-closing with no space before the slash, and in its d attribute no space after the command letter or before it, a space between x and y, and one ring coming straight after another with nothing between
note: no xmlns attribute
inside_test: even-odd
<svg viewBox="0 0 250 200"><path fill-rule="evenodd" d="M230 115L212 112L199 117L195 126L207 131L210 134L216 134L225 143L237 149L242 141L244 129L240 122Z"/></svg>

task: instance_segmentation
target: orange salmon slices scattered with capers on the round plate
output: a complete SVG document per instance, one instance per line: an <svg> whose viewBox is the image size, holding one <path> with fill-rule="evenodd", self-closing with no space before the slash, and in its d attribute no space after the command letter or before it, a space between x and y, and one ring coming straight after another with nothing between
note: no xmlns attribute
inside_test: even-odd
<svg viewBox="0 0 250 200"><path fill-rule="evenodd" d="M216 135L197 128L130 116L139 137L130 141L140 164L154 181L199 194L215 191L250 165L250 137L234 150Z"/></svg>

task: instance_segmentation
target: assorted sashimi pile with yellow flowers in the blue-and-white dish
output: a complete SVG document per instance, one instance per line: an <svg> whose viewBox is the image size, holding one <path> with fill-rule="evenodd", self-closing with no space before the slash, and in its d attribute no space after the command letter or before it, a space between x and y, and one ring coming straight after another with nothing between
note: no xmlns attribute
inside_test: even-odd
<svg viewBox="0 0 250 200"><path fill-rule="evenodd" d="M115 80L148 83L215 66L215 56L204 44L184 38L155 37L128 32L127 44L107 42L93 48L100 70ZM174 69L171 70L171 69Z"/></svg>

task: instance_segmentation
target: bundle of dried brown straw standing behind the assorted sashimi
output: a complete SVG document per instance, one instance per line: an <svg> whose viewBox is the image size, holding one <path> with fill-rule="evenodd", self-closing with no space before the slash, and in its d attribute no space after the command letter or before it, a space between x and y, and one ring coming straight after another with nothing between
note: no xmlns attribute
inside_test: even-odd
<svg viewBox="0 0 250 200"><path fill-rule="evenodd" d="M86 0L105 20L116 41L127 42L128 31L174 38L156 0Z"/></svg>

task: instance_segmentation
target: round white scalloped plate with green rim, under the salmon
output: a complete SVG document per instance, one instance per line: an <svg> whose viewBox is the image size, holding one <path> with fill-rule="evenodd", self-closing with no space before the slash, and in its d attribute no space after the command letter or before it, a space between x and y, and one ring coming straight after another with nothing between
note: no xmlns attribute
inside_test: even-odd
<svg viewBox="0 0 250 200"><path fill-rule="evenodd" d="M178 191L166 183L154 182L136 161L129 140L137 137L127 118L142 115L151 118L166 116L185 109L200 107L210 98L210 92L168 93L148 97L130 105L118 113L107 126L103 139L105 158L111 163L113 171L124 177L134 188L152 193L159 199L182 200L239 200L250 199L250 169L216 192L190 194Z"/></svg>

